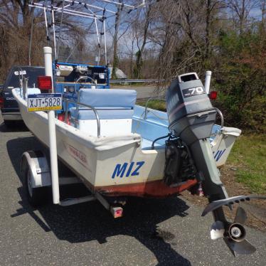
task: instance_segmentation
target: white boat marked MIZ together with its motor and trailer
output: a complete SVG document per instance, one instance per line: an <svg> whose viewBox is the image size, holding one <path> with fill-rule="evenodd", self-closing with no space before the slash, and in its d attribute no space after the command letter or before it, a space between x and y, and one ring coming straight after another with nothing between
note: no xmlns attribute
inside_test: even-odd
<svg viewBox="0 0 266 266"><path fill-rule="evenodd" d="M233 223L223 213L223 206L262 197L228 198L220 181L218 166L225 164L240 129L223 127L223 116L208 97L209 73L205 86L196 73L179 75L166 92L167 112L160 112L135 105L135 90L98 87L100 80L109 85L105 68L97 72L92 65L52 63L52 49L45 47L44 53L46 77L39 78L38 88L27 87L24 78L23 87L13 90L26 126L50 148L50 167L40 152L23 154L21 171L31 203L41 203L44 188L52 186L53 203L68 206L97 198L119 217L122 206L112 206L107 196L166 197L188 189L208 197L203 216L213 213L213 240L223 238L234 255L255 251L245 240L243 208L238 207ZM46 102L50 109L61 108L58 95L49 103L50 92L63 94L56 115L40 111ZM217 113L221 126L215 124ZM74 181L58 178L57 157L92 196L60 201L59 184Z"/></svg>

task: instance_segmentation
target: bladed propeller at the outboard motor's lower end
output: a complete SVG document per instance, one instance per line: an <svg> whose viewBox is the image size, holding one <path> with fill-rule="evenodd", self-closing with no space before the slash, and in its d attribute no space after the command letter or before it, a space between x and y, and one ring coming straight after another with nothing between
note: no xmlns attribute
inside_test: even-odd
<svg viewBox="0 0 266 266"><path fill-rule="evenodd" d="M235 253L248 255L255 252L256 248L245 239L246 233L243 225L247 218L245 210L238 206L233 223L216 220L211 225L211 239L223 238L233 255Z"/></svg>

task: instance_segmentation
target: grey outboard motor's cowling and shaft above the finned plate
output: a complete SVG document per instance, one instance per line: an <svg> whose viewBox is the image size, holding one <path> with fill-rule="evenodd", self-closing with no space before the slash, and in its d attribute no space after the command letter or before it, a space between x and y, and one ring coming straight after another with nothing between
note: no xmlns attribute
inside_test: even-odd
<svg viewBox="0 0 266 266"><path fill-rule="evenodd" d="M205 195L210 201L228 198L208 139L216 122L216 109L196 73L179 75L171 83L166 107L169 130L188 147Z"/></svg>

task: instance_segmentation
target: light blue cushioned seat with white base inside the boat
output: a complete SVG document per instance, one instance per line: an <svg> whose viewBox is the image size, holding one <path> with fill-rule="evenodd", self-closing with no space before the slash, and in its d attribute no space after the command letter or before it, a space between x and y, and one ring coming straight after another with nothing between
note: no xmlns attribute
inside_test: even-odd
<svg viewBox="0 0 266 266"><path fill-rule="evenodd" d="M80 89L78 102L94 107L100 119L102 136L131 134L132 116L137 99L135 90ZM86 107L71 107L71 124L83 132L97 136L95 112Z"/></svg>

